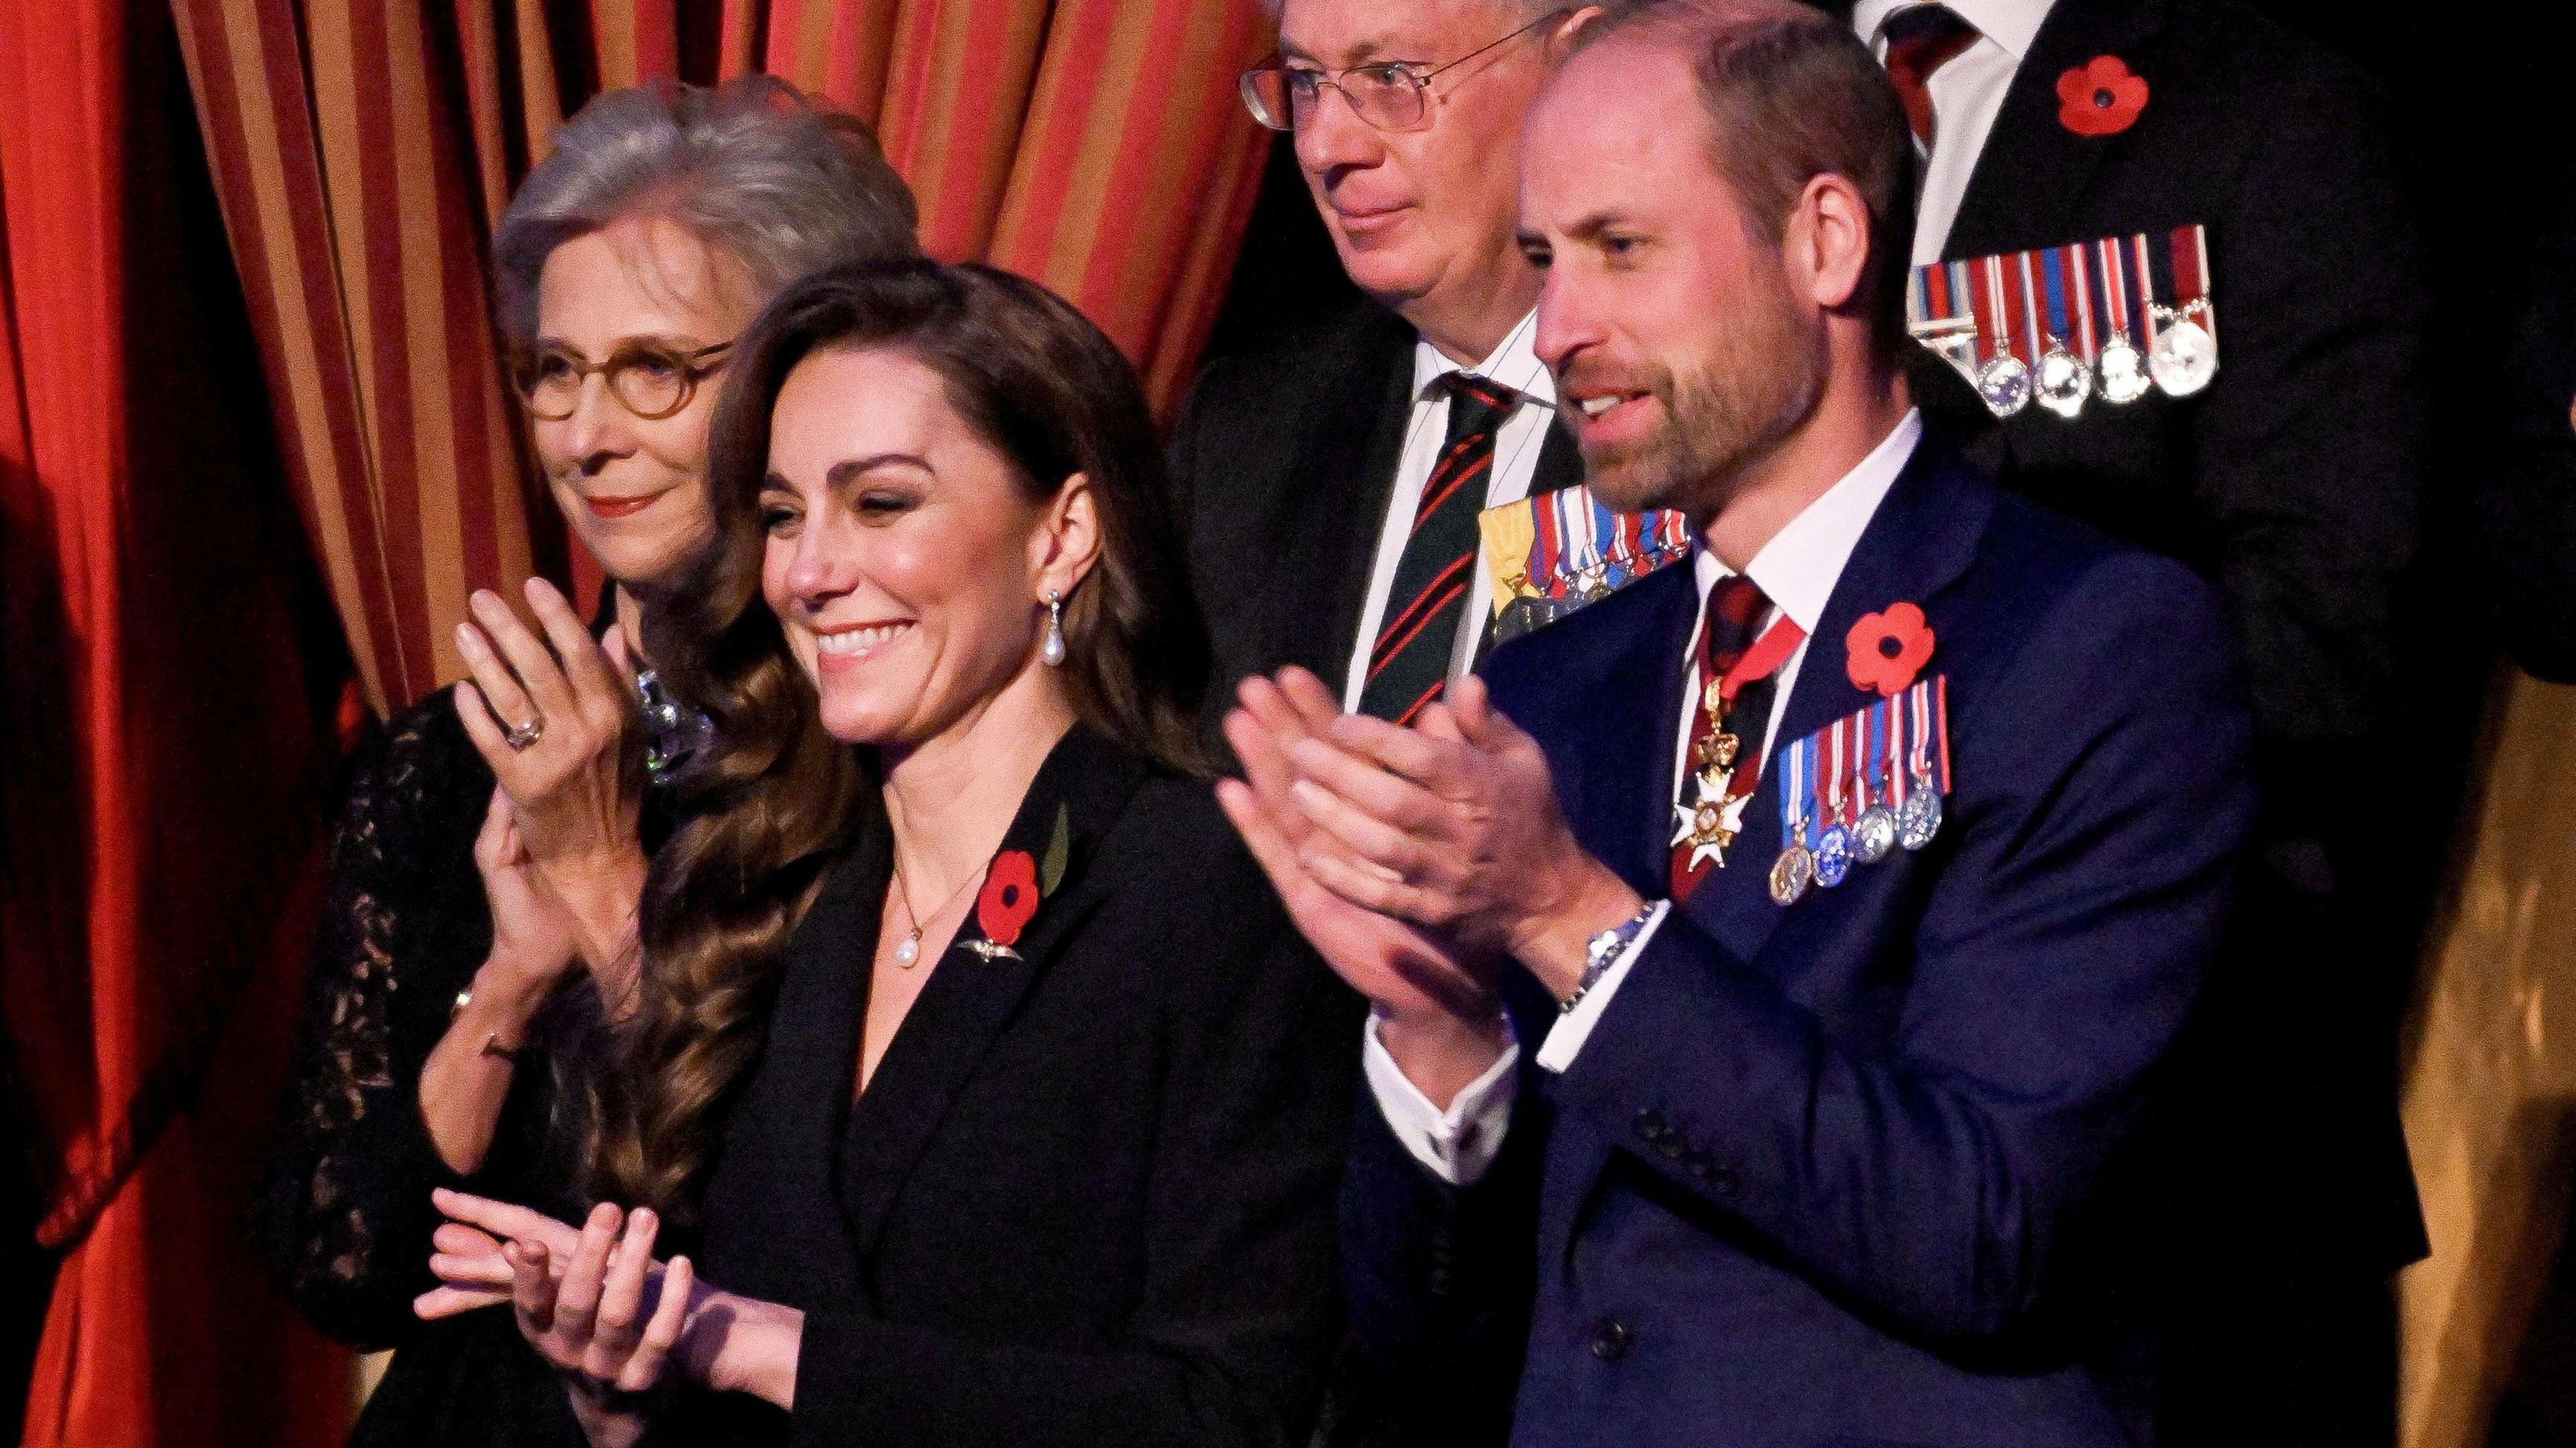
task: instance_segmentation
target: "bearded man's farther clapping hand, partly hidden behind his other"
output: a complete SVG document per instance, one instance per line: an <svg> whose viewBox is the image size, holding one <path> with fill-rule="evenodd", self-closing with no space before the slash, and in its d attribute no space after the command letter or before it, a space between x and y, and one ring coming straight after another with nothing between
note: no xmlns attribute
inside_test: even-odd
<svg viewBox="0 0 2576 1448"><path fill-rule="evenodd" d="M1216 801L1242 832L1252 858L1288 904L1298 933L1378 1013L1378 1041L1435 1105L1448 1105L1512 1043L1494 995L1492 958L1363 910L1324 889L1301 863L1309 848L1337 853L1288 796L1285 745L1329 721L1337 706L1324 685L1288 670L1278 683L1244 680L1242 709L1226 716L1226 742L1244 763L1242 781L1218 781Z"/></svg>

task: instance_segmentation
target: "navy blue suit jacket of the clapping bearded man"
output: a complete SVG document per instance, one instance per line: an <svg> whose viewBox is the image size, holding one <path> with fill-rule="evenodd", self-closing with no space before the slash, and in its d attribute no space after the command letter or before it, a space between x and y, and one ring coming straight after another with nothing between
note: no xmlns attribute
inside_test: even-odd
<svg viewBox="0 0 2576 1448"><path fill-rule="evenodd" d="M1777 778L1582 1054L1530 1064L1466 1190L1360 1113L1355 1332L1437 1433L1564 1448L2136 1443L2154 1105L2251 830L2228 629L2187 569L1999 495L1937 441L1862 533L1777 742L1862 709L1844 634L1937 631L1953 794L1922 853L1772 904ZM1587 850L1669 894L1692 569L1494 654ZM1535 1244L1535 1257L1530 1255ZM1479 1422L1484 1420L1484 1422Z"/></svg>

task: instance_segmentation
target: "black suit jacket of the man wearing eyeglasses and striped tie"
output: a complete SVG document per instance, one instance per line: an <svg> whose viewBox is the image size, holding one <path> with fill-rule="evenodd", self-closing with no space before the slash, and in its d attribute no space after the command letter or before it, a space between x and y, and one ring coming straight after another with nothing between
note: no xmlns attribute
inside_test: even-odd
<svg viewBox="0 0 2576 1448"><path fill-rule="evenodd" d="M1414 330L1368 299L1211 361L1190 386L1172 487L1216 644L1211 724L1255 672L1303 665L1342 691L1412 407ZM1582 479L1574 433L1551 425L1530 492Z"/></svg>

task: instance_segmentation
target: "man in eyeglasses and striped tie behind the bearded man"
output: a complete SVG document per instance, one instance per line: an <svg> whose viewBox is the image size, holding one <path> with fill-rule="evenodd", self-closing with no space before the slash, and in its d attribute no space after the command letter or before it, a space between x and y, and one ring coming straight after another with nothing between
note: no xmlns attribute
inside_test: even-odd
<svg viewBox="0 0 2576 1448"><path fill-rule="evenodd" d="M1244 75L1296 139L1368 301L1213 363L1172 438L1190 567L1234 683L1303 665L1347 709L1412 719L1489 642L1479 513L1582 479L1530 350L1512 242L1520 119L1597 8L1273 0Z"/></svg>

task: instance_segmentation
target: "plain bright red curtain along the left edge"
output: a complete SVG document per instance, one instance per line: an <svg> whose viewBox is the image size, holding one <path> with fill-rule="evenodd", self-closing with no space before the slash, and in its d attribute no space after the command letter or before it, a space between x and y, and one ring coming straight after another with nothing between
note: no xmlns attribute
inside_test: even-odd
<svg viewBox="0 0 2576 1448"><path fill-rule="evenodd" d="M281 1389L345 1355L263 1288L242 1208L312 910L337 647L314 647L237 286L209 258L165 8L0 5L0 1025L39 1239L67 1247L26 1433L327 1440L330 1415L289 1422Z"/></svg>

